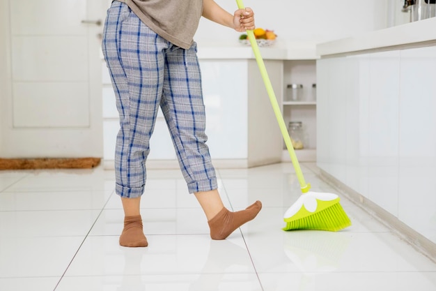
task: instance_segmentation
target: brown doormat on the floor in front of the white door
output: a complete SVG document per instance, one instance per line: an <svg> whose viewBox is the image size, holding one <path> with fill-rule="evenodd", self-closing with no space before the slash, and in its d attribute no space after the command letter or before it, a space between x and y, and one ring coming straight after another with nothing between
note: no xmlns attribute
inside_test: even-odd
<svg viewBox="0 0 436 291"><path fill-rule="evenodd" d="M100 158L0 158L0 170L90 169Z"/></svg>

